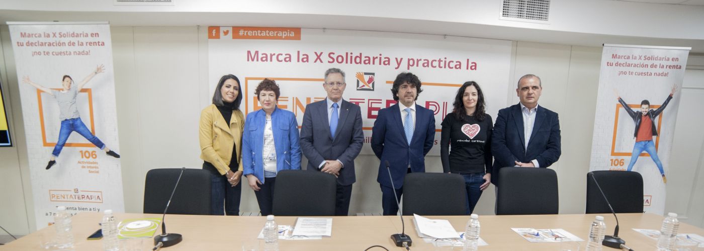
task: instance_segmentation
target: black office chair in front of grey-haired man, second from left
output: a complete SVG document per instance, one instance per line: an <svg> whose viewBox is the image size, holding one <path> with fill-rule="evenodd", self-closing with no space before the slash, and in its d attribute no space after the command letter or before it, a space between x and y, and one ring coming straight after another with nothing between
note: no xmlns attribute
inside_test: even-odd
<svg viewBox="0 0 704 251"><path fill-rule="evenodd" d="M334 216L337 178L330 173L282 170L276 175L272 214Z"/></svg>

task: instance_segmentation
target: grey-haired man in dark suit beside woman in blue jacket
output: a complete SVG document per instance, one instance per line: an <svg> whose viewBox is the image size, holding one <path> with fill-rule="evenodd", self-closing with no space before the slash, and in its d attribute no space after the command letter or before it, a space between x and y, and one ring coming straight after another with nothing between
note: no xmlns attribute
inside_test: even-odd
<svg viewBox="0 0 704 251"><path fill-rule="evenodd" d="M364 143L359 106L342 99L345 73L338 68L325 71L322 84L325 100L306 106L301 126L301 151L308 170L337 176L335 215L347 216L355 183L354 159Z"/></svg>

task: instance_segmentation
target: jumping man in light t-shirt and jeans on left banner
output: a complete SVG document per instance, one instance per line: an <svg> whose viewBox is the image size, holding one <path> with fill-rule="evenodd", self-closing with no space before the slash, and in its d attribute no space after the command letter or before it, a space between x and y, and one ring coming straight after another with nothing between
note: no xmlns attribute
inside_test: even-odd
<svg viewBox="0 0 704 251"><path fill-rule="evenodd" d="M61 154L61 149L63 149L63 146L66 144L68 136L70 136L73 132L82 135L91 143L93 143L93 145L102 149L106 154L115 158L120 158L120 154L117 154L116 152L113 152L111 149L106 147L106 145L103 144L103 142L101 142L98 137L93 135L93 133L88 130L83 121L81 121L80 114L78 114L78 108L76 105L76 98L78 96L78 92L83 89L83 86L86 85L87 82L92 80L93 77L95 77L99 73L103 73L103 71L105 71L103 65L97 66L92 73L87 75L80 83L78 83L78 86L74 85L73 78L71 78L70 75L63 75L63 78L61 78L61 86L63 87L63 90L51 90L47 87L32 82L29 76L24 76L24 78L22 79L23 82L32 85L38 90L49 93L56 99L56 102L58 103L60 111L59 118L61 119L61 130L59 130L58 133L58 141L56 142L56 146L54 147L54 152L51 152L51 159L49 159L49 163L46 164L47 170L50 169L51 166L54 166L56 164L56 158L58 157L58 154Z"/></svg>

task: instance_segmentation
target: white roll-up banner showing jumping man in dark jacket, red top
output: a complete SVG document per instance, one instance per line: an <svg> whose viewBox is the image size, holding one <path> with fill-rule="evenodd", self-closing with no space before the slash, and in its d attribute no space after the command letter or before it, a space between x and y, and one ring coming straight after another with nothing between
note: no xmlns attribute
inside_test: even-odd
<svg viewBox="0 0 704 251"><path fill-rule="evenodd" d="M643 176L643 209L665 211L670 152L690 48L604 44L590 171Z"/></svg>

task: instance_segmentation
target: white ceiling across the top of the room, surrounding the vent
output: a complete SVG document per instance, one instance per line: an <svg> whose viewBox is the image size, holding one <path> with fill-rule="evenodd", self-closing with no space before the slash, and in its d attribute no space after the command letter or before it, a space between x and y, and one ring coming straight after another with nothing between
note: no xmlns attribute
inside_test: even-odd
<svg viewBox="0 0 704 251"><path fill-rule="evenodd" d="M341 1L337 8L331 8L327 0L174 1L175 6L113 6L112 0L62 0L61 4L56 0L0 0L0 22L104 20L113 26L308 27L589 47L691 47L695 53L704 53L704 6L681 5L704 0L552 1L548 24L499 20L501 1L357 0Z"/></svg>

